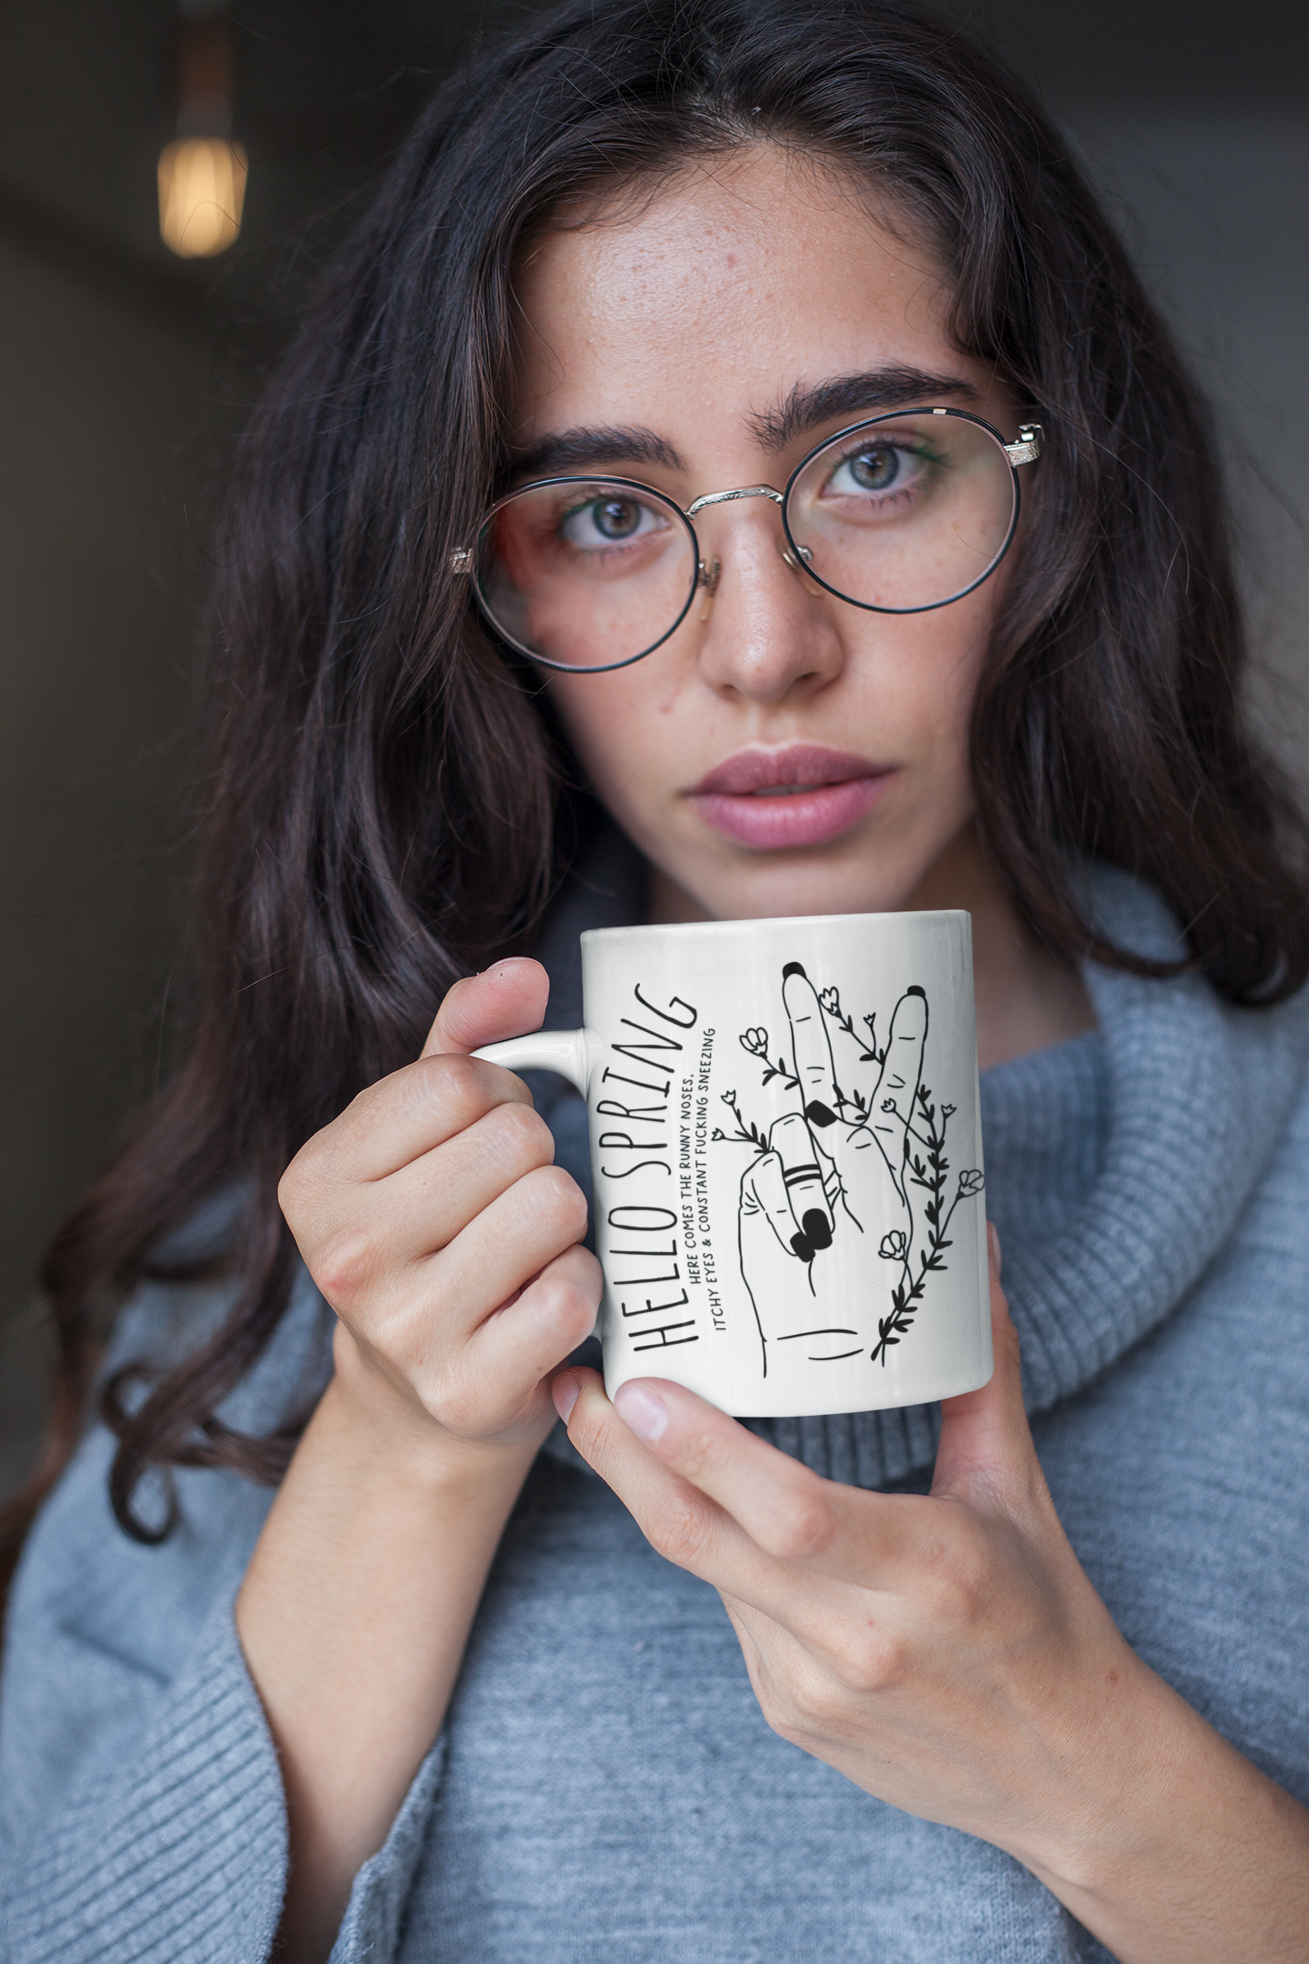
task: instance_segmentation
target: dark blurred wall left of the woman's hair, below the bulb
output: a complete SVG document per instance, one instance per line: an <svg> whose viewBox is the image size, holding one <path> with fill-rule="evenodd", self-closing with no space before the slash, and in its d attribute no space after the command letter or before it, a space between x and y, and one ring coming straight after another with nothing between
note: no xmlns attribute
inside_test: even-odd
<svg viewBox="0 0 1309 1964"><path fill-rule="evenodd" d="M0 1477L37 1373L29 1282L151 1082L186 750L184 513L204 359L0 246Z"/></svg>

